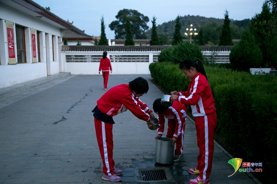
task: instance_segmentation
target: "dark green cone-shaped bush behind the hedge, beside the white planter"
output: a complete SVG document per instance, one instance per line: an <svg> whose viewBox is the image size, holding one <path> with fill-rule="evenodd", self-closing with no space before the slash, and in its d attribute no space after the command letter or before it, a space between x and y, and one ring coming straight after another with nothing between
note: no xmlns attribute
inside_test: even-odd
<svg viewBox="0 0 277 184"><path fill-rule="evenodd" d="M255 37L247 29L241 36L241 41L233 47L229 55L230 63L234 69L249 72L262 61L262 52L255 43Z"/></svg>

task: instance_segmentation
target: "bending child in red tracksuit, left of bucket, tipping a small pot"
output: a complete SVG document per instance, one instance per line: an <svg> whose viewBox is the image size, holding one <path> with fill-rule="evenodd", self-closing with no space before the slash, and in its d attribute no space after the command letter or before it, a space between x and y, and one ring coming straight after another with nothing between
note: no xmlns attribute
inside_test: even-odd
<svg viewBox="0 0 277 184"><path fill-rule="evenodd" d="M113 160L113 116L128 109L138 118L147 122L148 128L153 125L151 118L155 117L145 103L139 100L148 92L148 83L138 77L128 84L112 87L98 101L94 112L94 124L97 142L103 161L102 179L108 181L121 181L121 170L114 167Z"/></svg>

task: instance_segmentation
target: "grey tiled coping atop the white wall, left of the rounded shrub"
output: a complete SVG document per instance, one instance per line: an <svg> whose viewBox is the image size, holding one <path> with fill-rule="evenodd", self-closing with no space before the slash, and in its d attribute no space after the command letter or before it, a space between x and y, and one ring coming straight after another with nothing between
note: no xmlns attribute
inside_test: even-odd
<svg viewBox="0 0 277 184"><path fill-rule="evenodd" d="M161 51L172 46L62 45L62 51Z"/></svg>

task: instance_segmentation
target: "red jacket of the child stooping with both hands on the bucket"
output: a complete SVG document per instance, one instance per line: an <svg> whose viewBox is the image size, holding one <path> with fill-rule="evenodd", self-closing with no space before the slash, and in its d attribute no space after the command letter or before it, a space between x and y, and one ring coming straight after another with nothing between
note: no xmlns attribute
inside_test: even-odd
<svg viewBox="0 0 277 184"><path fill-rule="evenodd" d="M157 115L159 119L159 124L161 125L161 127L158 128L159 135L162 135L164 132L164 117L166 117L167 119L175 119L176 127L173 137L177 139L182 131L182 121L184 121L184 119L187 118L186 106L178 101L173 101L173 105L167 109L165 115L159 113L157 113Z"/></svg>

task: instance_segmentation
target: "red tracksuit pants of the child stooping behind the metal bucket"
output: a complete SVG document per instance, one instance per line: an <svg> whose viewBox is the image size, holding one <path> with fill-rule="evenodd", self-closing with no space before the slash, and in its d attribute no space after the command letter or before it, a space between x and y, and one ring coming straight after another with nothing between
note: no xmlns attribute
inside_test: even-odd
<svg viewBox="0 0 277 184"><path fill-rule="evenodd" d="M181 133L180 133L180 135L178 135L178 138L176 141L175 155L183 154L185 125L186 125L186 119L183 118L182 125L181 125ZM176 127L175 119L168 119L168 128L167 128L167 133L166 133L167 138L173 138L173 135L175 132L175 127Z"/></svg>

